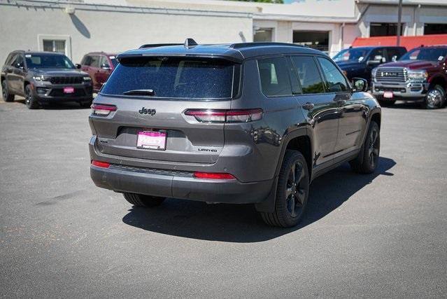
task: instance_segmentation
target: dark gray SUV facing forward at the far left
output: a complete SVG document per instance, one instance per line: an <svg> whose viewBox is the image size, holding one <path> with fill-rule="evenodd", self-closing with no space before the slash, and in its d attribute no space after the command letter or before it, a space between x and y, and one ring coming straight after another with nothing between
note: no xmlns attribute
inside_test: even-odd
<svg viewBox="0 0 447 299"><path fill-rule="evenodd" d="M6 58L0 76L6 102L20 95L29 109L52 102L92 104L90 77L61 53L14 51Z"/></svg>

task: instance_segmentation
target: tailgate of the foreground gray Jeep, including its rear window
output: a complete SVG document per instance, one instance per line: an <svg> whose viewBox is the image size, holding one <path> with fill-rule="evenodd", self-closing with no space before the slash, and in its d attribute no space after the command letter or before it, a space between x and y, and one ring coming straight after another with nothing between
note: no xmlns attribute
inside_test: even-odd
<svg viewBox="0 0 447 299"><path fill-rule="evenodd" d="M117 108L111 116L90 117L97 151L162 164L215 162L224 124L201 122L185 111L230 109L234 82L234 64L224 60L123 58L94 101ZM162 134L164 148L138 147L143 134Z"/></svg>

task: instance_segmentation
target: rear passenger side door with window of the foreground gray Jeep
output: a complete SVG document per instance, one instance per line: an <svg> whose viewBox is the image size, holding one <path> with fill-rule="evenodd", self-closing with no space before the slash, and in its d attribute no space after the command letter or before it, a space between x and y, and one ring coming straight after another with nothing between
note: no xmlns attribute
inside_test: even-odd
<svg viewBox="0 0 447 299"><path fill-rule="evenodd" d="M299 104L313 127L313 167L318 167L332 160L339 130L339 104L334 95L325 91L325 83L313 56L292 56L292 62L302 90L302 95L298 97Z"/></svg>

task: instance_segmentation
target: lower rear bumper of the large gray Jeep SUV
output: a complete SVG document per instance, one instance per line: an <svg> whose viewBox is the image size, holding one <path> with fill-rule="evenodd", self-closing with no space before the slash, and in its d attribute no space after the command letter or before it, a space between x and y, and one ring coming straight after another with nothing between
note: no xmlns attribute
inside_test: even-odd
<svg viewBox="0 0 447 299"><path fill-rule="evenodd" d="M121 165L111 165L109 168L90 165L90 176L96 186L120 193L232 204L262 202L269 195L274 181L241 183L237 179L197 179L192 172Z"/></svg>

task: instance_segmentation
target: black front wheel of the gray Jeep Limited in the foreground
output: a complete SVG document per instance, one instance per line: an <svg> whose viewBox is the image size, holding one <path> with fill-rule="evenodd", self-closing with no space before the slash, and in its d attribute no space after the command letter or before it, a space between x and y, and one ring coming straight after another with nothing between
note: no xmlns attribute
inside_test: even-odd
<svg viewBox="0 0 447 299"><path fill-rule="evenodd" d="M355 172L371 174L378 165L378 155L381 148L381 134L377 123L371 120L367 138L364 140L361 152L354 160L349 162Z"/></svg>

